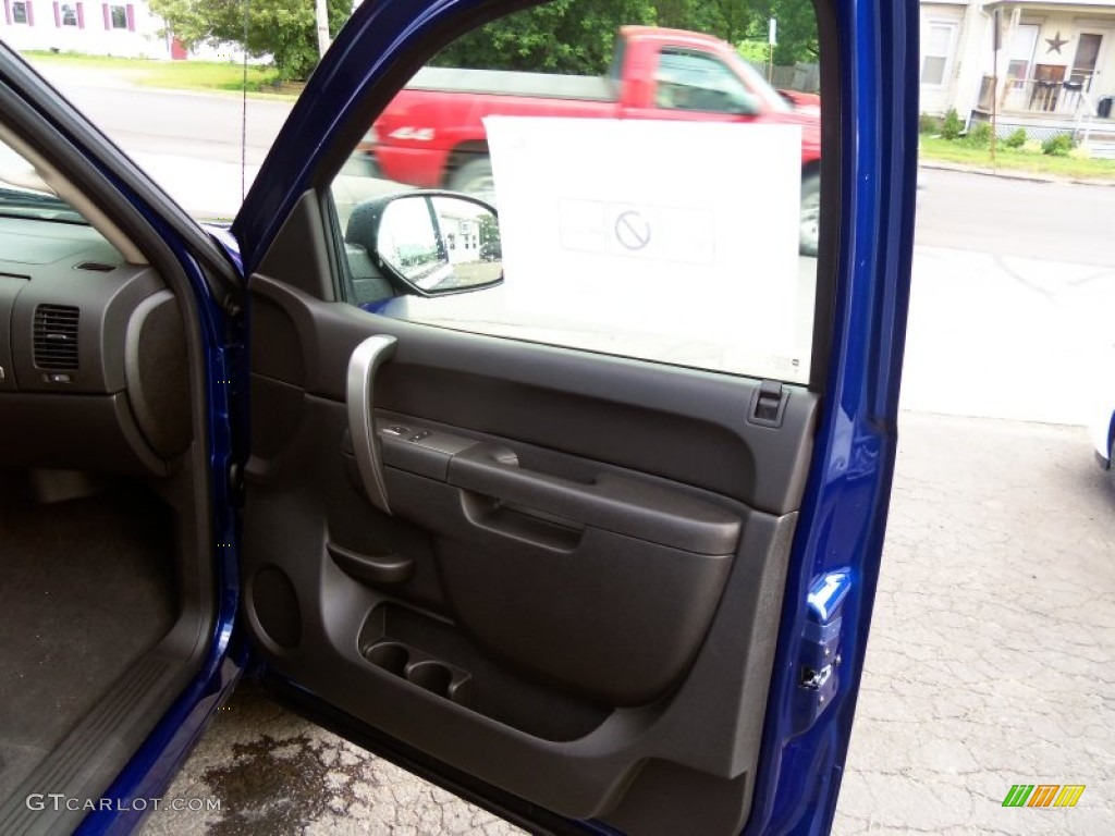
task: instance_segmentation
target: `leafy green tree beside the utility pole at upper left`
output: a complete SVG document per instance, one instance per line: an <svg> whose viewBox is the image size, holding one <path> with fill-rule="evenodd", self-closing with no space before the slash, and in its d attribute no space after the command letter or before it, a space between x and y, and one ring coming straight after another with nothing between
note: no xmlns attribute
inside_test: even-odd
<svg viewBox="0 0 1115 836"><path fill-rule="evenodd" d="M328 0L328 9L336 35L352 3ZM186 49L236 43L253 57L270 55L283 79L308 78L318 62L313 0L151 0L151 10Z"/></svg>

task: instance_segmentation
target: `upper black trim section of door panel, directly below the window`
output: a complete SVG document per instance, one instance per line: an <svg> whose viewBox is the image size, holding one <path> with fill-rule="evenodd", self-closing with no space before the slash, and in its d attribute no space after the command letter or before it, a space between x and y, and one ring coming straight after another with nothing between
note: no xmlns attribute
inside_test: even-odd
<svg viewBox="0 0 1115 836"><path fill-rule="evenodd" d="M801 503L817 410L804 388L785 387L774 429L747 420L758 389L747 378L372 317L265 276L251 281L256 375L343 401L352 350L390 334L399 348L377 378L382 409L630 467L772 514Z"/></svg>

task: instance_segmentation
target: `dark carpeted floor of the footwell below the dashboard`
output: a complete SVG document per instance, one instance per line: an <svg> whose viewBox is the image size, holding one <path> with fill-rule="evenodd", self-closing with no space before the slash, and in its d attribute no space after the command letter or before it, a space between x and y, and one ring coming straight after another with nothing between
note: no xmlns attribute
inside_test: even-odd
<svg viewBox="0 0 1115 836"><path fill-rule="evenodd" d="M38 505L0 474L0 798L169 630L172 558L143 492Z"/></svg>

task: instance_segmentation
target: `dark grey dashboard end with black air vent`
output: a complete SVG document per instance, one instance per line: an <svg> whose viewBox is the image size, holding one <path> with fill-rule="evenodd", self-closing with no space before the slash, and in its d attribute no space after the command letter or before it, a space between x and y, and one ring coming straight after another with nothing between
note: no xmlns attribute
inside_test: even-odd
<svg viewBox="0 0 1115 836"><path fill-rule="evenodd" d="M164 476L192 438L182 314L91 226L0 217L0 466Z"/></svg>

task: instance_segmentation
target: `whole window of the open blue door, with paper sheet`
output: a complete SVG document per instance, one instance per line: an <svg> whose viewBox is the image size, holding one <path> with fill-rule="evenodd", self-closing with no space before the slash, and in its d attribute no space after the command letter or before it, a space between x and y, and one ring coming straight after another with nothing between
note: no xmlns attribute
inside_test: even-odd
<svg viewBox="0 0 1115 836"><path fill-rule="evenodd" d="M343 292L429 325L807 381L821 100L795 82L818 78L812 6L779 25L785 49L765 13L613 6L516 12L415 75L332 185ZM385 236L416 188L493 212L413 201Z"/></svg>

